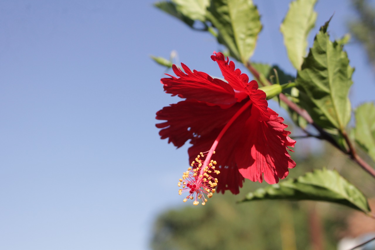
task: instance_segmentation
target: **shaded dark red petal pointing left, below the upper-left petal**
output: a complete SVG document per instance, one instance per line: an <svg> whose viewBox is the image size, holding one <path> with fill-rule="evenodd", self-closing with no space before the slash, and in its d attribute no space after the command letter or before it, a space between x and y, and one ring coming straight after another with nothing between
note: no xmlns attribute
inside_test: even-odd
<svg viewBox="0 0 375 250"><path fill-rule="evenodd" d="M157 111L156 119L166 122L158 123L156 127L162 128L159 132L161 139L169 137L168 143L172 142L179 148L189 139L206 136L214 129L224 127L239 107L237 104L223 109L195 100L180 101Z"/></svg>

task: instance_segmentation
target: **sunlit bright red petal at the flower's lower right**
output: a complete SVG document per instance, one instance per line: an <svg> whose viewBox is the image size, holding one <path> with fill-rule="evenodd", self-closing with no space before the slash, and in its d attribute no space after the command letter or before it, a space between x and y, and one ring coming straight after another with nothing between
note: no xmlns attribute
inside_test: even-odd
<svg viewBox="0 0 375 250"><path fill-rule="evenodd" d="M272 109L268 111L269 121L259 121L253 114L246 121L243 137L237 144L236 162L243 177L259 182L264 178L267 183L275 184L296 166L287 151L287 146L293 147L296 142L284 130L288 127L282 123L284 119Z"/></svg>

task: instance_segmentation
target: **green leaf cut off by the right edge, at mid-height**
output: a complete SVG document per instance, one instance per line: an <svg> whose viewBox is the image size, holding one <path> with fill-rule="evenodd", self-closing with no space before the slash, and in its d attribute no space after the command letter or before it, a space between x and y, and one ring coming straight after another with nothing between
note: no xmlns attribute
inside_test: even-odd
<svg viewBox="0 0 375 250"><path fill-rule="evenodd" d="M356 142L375 161L375 106L368 102L356 110Z"/></svg>

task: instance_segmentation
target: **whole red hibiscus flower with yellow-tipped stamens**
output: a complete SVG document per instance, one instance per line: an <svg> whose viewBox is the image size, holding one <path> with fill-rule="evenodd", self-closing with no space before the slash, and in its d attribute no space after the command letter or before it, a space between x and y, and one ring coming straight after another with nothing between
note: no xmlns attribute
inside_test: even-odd
<svg viewBox="0 0 375 250"><path fill-rule="evenodd" d="M204 205L205 196L211 197L215 190L239 193L244 178L278 183L296 166L287 151L296 142L284 130L284 119L268 108L266 93L222 53L211 59L228 83L191 71L183 63L184 72L173 65L177 77L169 75L161 83L166 93L184 100L156 113L156 119L166 120L156 124L162 129L161 139L168 138L177 148L187 140L192 144L188 150L192 167L179 186L183 185L180 194L189 192L187 199L195 195L195 205L199 199Z"/></svg>

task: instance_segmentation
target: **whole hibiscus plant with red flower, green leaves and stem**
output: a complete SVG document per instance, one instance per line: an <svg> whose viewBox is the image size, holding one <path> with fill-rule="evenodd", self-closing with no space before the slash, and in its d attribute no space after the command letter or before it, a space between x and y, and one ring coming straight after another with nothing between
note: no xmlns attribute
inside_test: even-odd
<svg viewBox="0 0 375 250"><path fill-rule="evenodd" d="M286 179L296 163L289 151L296 141L284 119L268 107L275 99L290 114L290 120L307 137L326 140L375 178L375 106L364 103L355 109L348 98L354 69L344 50L346 39L331 41L321 26L307 50L307 37L315 26L316 0L291 2L281 24L288 57L296 77L280 82L279 69L252 63L260 14L251 0L171 0L156 7L180 19L192 29L210 32L225 51L211 55L223 78L172 65L162 57L153 59L172 68L160 81L166 93L179 101L157 111L161 139L177 148L186 142L189 167L178 182L183 201L205 205L214 193L238 194L243 181L269 184L246 194L243 201L264 199L321 200L371 213L368 199L336 170L316 169L296 179ZM251 75L236 68L243 64ZM264 70L266 69L266 70ZM355 119L354 119L355 118ZM355 126L348 125L355 120ZM354 123L353 123L354 124ZM298 142L296 153L299 154ZM368 155L366 161L358 151Z"/></svg>

